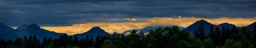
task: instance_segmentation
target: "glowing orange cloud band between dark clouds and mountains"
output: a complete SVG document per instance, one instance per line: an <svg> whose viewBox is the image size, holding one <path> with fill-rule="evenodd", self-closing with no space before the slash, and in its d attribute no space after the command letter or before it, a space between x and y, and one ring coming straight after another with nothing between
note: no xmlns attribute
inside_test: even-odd
<svg viewBox="0 0 256 48"><path fill-rule="evenodd" d="M125 18L125 20L136 21L137 19ZM196 17L154 17L143 19L143 22L124 22L124 23L85 23L85 24L73 24L72 26L44 26L43 29L55 31L57 33L67 33L69 35L80 34L88 31L90 28L100 26L106 32L112 34L114 32L123 33L124 31L131 29L141 29L146 26L158 26L158 25L178 25L181 27L187 27L196 21L206 20L212 24L229 23L235 24L236 26L246 26L256 22L254 18L196 18Z"/></svg>

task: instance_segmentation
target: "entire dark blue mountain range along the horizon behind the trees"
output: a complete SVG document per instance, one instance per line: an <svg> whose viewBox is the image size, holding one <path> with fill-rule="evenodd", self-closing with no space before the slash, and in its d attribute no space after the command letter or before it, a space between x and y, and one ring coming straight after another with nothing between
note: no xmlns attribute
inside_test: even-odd
<svg viewBox="0 0 256 48"><path fill-rule="evenodd" d="M225 26L229 29L231 29L232 26L235 26L233 24L228 24L228 23L223 23L223 24L218 24L218 25L215 25L215 24L211 24L205 20L200 20L200 21L197 21L195 22L194 24L191 24L189 25L188 27L186 28L183 28L183 27L180 27L181 30L185 29L186 31L190 32L191 35L194 35L194 32L195 30L198 29L199 25L200 24L203 24L203 27L205 28L205 33L208 34L209 33L209 30L210 30L210 26L213 26L214 28L216 26L219 26L219 28L221 29L223 26ZM250 24L247 26L247 29L249 30L252 30L253 28L253 25L256 24L256 23L253 23L253 24ZM142 29L134 29L134 30L137 30L137 34L140 35L142 32L143 34L148 34L148 32L152 29L152 30L155 30L157 28L160 28L160 27L166 27L166 26L148 26L148 27L145 27L145 28L142 28ZM172 26L169 26L169 27L172 27ZM240 29L239 27L237 27L238 29ZM129 33L131 33L132 30L128 30L128 31L125 31L124 33L121 33L121 34L124 34L124 35L128 35ZM43 28L41 28L39 25L37 24L22 24L20 25L19 27L17 27L16 29L4 24L4 23L0 23L0 38L3 38L3 39L15 39L16 37L24 37L24 36L33 36L33 35L36 35L37 38L39 38L40 40L43 40L44 37L51 37L51 38L57 38L59 37L61 34L63 33L56 33L56 32L53 32L53 31L48 31L48 30L45 30ZM116 32L114 32L113 34L118 34ZM102 36L112 36L113 34L109 34L107 33L106 31L104 31L103 29L101 29L100 27L92 27L89 31L85 32L85 33L82 33L82 34L76 34L78 36L78 38L84 38L86 35L88 36L93 36L93 38L95 38L96 36L98 35L102 35Z"/></svg>

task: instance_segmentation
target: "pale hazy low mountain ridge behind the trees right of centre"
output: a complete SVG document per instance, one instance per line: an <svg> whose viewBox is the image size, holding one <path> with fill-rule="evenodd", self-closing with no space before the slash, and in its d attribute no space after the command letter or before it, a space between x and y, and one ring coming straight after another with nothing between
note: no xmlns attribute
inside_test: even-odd
<svg viewBox="0 0 256 48"><path fill-rule="evenodd" d="M133 29L133 30L136 30L137 31L137 34L138 35L140 35L142 32L143 33L148 33L151 29L152 30L156 30L157 28L164 28L164 27L166 27L166 26L155 26L155 27L152 27L152 26L148 26L148 27L145 27L145 28L142 28L142 29ZM172 26L168 26L168 27L172 27ZM183 28L183 27L179 27L181 30L182 29L185 29L185 28ZM124 34L125 36L127 36L128 34L130 34L132 32L132 30L128 30L128 31L125 31L124 33L122 33L122 34Z"/></svg>

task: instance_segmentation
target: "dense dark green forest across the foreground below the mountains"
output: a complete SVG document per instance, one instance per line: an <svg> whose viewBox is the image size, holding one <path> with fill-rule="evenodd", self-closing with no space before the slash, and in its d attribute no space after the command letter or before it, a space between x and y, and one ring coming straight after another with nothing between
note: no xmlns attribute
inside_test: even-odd
<svg viewBox="0 0 256 48"><path fill-rule="evenodd" d="M221 27L221 28L220 28ZM40 41L33 36L24 36L15 40L0 39L0 48L254 48L256 47L256 25L253 31L246 26L237 29L236 26L211 26L209 34L204 32L203 24L195 31L180 30L178 26L157 28L150 34L136 34L113 36L98 35L78 38L76 35L63 34L59 38L44 38Z"/></svg>

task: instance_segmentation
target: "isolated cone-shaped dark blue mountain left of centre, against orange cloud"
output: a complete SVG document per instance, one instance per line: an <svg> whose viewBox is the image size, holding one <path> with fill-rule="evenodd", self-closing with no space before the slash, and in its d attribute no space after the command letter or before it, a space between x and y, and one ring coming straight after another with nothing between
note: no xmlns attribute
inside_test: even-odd
<svg viewBox="0 0 256 48"><path fill-rule="evenodd" d="M111 36L111 34L107 33L106 31L104 31L103 29L101 29L100 27L92 27L89 31L82 33L82 34L76 34L76 36L78 38L85 38L86 35L88 36L93 36L93 39L96 38L96 36L98 36L98 34L101 36Z"/></svg>

